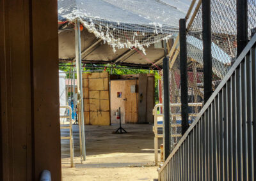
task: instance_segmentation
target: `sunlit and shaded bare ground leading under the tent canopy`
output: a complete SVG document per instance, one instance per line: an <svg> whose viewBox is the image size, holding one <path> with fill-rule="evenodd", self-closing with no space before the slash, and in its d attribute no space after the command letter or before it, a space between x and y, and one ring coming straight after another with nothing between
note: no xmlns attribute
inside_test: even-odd
<svg viewBox="0 0 256 181"><path fill-rule="evenodd" d="M86 161L81 164L79 127L73 126L74 163L70 168L69 141L61 140L63 180L154 180L152 124L124 124L127 134L113 134L118 126L86 126ZM68 131L61 130L61 136ZM160 140L159 140L160 141ZM160 143L159 143L160 144Z"/></svg>

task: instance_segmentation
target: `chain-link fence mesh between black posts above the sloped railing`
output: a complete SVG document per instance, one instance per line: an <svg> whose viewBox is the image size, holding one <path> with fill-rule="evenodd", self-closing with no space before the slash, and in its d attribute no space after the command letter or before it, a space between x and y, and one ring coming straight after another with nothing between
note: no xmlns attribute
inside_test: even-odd
<svg viewBox="0 0 256 181"><path fill-rule="evenodd" d="M256 27L256 2L248 0L248 39ZM219 85L237 57L236 0L211 0L212 89ZM204 102L202 5L187 29L189 123ZM171 57L172 58L172 57ZM173 60L172 60L173 61ZM170 68L170 103L180 103L179 56ZM191 104L198 103L198 104ZM192 106L191 106L192 105ZM180 106L171 106L171 150L181 134ZM176 124L176 125L175 125ZM174 126L175 125L175 126Z"/></svg>

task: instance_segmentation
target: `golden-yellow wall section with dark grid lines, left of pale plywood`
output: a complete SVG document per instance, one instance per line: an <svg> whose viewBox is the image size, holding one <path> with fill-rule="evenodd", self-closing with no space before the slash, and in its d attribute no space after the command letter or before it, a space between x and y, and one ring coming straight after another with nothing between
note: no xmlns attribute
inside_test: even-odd
<svg viewBox="0 0 256 181"><path fill-rule="evenodd" d="M110 124L108 72L83 73L83 99L86 124Z"/></svg>

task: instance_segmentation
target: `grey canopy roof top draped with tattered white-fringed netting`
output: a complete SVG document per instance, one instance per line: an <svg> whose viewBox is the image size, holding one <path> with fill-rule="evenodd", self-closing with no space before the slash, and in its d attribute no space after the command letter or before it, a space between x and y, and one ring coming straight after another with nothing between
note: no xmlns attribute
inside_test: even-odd
<svg viewBox="0 0 256 181"><path fill-rule="evenodd" d="M78 18L90 33L113 47L113 52L135 47L145 54L144 47L179 33L179 18L185 17L190 3L191 0L59 0L58 14L70 22Z"/></svg>

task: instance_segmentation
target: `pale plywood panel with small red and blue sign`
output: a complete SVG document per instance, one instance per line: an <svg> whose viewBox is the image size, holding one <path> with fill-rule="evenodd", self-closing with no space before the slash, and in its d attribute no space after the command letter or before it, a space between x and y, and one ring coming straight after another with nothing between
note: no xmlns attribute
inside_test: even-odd
<svg viewBox="0 0 256 181"><path fill-rule="evenodd" d="M117 92L122 92L122 98L117 98ZM125 94L125 80L111 80L110 81L110 115L111 124L119 123L116 119L116 109L121 108L122 123L125 123L125 110L124 110L124 94Z"/></svg>

